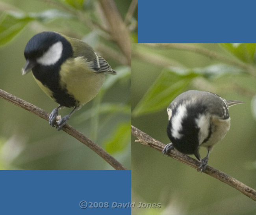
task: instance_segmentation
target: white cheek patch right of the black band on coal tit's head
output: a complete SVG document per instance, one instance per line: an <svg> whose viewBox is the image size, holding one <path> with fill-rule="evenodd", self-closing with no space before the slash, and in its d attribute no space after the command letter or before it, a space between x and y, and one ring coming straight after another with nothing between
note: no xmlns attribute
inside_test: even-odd
<svg viewBox="0 0 256 215"><path fill-rule="evenodd" d="M197 127L200 128L198 133L199 145L208 137L210 128L210 116L205 114L200 114L198 118L195 119Z"/></svg>

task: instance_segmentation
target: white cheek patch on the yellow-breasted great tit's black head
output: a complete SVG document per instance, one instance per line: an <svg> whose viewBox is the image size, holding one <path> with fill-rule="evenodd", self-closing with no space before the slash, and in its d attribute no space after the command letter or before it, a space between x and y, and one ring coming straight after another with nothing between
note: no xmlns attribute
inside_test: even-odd
<svg viewBox="0 0 256 215"><path fill-rule="evenodd" d="M37 58L37 63L43 66L56 64L56 62L61 58L62 50L62 42L56 42L43 54L43 56Z"/></svg>

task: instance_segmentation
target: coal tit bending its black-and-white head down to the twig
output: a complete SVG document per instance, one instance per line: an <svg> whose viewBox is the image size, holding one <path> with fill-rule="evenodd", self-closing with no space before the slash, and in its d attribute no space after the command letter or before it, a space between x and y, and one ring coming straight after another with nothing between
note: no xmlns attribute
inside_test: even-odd
<svg viewBox="0 0 256 215"><path fill-rule="evenodd" d="M167 135L171 143L163 149L163 154L176 148L184 154L194 154L201 162L200 171L208 165L208 157L214 144L222 140L230 128L230 106L244 103L226 100L215 93L189 90L176 97L169 107ZM198 148L208 149L207 156L200 158Z"/></svg>

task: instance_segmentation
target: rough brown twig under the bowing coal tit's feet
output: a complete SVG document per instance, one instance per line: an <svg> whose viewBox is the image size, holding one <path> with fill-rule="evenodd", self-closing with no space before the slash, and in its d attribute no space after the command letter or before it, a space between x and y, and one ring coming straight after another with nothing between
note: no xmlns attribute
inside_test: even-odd
<svg viewBox="0 0 256 215"><path fill-rule="evenodd" d="M132 135L138 138L138 140L135 140L135 142L140 142L141 144L145 146L150 146L151 148L154 148L160 152L165 147L165 144L159 142L158 140L155 140L154 138L150 137L149 135L140 131L134 126L132 126ZM171 150L169 156L197 170L198 167L200 166L200 163L197 160L187 155L184 155L183 153L180 153L177 150ZM221 180L222 182L232 186L233 188L236 188L247 197L250 197L250 199L256 201L256 190L248 187L239 180L236 180L233 177L227 175L226 173L223 173L218 169L212 168L210 166L206 167L205 173L215 179Z"/></svg>

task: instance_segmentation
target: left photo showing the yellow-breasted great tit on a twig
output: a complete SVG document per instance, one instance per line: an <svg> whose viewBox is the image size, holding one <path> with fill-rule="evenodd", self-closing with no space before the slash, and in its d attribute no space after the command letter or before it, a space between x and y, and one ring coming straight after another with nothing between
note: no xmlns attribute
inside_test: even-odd
<svg viewBox="0 0 256 215"><path fill-rule="evenodd" d="M1 169L131 169L134 2L1 2Z"/></svg>

